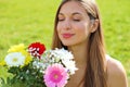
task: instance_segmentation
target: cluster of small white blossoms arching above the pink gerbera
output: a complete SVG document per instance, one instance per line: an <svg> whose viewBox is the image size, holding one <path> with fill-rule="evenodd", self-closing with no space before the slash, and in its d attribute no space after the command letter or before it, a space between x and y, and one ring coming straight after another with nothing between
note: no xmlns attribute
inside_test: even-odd
<svg viewBox="0 0 130 87"><path fill-rule="evenodd" d="M68 73L73 75L78 70L73 59L74 59L74 55L72 52L69 52L68 50L65 50L64 48L62 49L56 48L55 50L46 51L41 61L43 64L47 64L46 66L42 65L44 69L49 64L61 63L66 67Z"/></svg>

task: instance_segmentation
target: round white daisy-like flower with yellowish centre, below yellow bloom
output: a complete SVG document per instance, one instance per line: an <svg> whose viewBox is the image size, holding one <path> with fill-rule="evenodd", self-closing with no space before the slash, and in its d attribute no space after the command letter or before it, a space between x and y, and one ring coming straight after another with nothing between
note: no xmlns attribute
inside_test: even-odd
<svg viewBox="0 0 130 87"><path fill-rule="evenodd" d="M20 66L24 65L25 57L21 52L9 53L4 59L6 65L9 66Z"/></svg>

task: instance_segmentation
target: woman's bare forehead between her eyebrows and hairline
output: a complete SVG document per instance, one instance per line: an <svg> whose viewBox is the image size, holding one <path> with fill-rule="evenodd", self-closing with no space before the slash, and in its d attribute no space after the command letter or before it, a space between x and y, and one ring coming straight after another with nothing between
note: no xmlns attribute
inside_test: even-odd
<svg viewBox="0 0 130 87"><path fill-rule="evenodd" d="M78 1L68 1L61 7L60 13L72 14L72 13L87 14L86 9Z"/></svg>

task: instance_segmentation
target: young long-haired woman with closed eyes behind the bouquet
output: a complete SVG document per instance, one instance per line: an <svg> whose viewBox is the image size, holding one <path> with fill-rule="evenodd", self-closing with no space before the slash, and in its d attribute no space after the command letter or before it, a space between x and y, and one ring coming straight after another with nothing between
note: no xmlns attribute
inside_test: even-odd
<svg viewBox="0 0 130 87"><path fill-rule="evenodd" d="M63 0L55 16L52 49L73 52L79 69L66 87L127 87L121 63L106 55L94 0Z"/></svg>

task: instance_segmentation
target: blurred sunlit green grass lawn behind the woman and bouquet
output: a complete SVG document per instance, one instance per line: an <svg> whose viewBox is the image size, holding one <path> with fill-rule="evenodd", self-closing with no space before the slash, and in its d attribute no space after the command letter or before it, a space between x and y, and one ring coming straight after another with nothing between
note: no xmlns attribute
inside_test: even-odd
<svg viewBox="0 0 130 87"><path fill-rule="evenodd" d="M0 0L0 61L12 45L43 42L49 49L61 0ZM98 0L107 53L119 60L130 84L130 1ZM0 76L6 77L0 66Z"/></svg>

